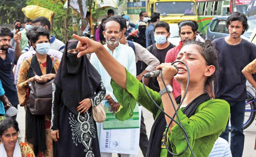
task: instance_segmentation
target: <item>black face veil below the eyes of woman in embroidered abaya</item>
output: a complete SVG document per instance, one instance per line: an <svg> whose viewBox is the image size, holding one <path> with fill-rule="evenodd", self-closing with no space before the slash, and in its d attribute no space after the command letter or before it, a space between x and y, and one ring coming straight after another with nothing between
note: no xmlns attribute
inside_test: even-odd
<svg viewBox="0 0 256 157"><path fill-rule="evenodd" d="M81 67L82 57L77 58L77 53L67 53L67 70L70 74L77 74Z"/></svg>

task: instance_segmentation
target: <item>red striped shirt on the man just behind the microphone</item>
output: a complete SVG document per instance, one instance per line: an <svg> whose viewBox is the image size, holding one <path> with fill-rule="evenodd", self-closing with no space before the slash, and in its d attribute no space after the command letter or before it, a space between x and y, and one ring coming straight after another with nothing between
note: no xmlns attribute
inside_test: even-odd
<svg viewBox="0 0 256 157"><path fill-rule="evenodd" d="M180 44L172 49L170 49L165 57L165 63L173 63L176 58L178 53L180 52L180 49L182 47L183 43L182 41L180 41ZM180 84L174 79L172 78L172 84L171 84L172 88L173 88L173 96L175 98L177 98L179 95L181 95L181 87Z"/></svg>

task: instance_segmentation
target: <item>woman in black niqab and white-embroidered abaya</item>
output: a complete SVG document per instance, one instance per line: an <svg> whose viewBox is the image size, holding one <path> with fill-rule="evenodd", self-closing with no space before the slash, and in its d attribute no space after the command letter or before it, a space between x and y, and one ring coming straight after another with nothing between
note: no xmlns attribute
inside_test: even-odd
<svg viewBox="0 0 256 157"><path fill-rule="evenodd" d="M100 157L92 107L106 90L97 70L86 56L77 58L77 40L66 43L53 84L51 134L54 156Z"/></svg>

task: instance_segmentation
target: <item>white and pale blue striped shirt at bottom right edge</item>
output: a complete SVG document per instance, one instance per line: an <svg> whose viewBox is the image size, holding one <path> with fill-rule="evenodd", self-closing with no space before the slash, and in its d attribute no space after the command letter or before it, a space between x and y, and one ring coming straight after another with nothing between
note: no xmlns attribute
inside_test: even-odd
<svg viewBox="0 0 256 157"><path fill-rule="evenodd" d="M218 137L208 157L232 157L228 141Z"/></svg>

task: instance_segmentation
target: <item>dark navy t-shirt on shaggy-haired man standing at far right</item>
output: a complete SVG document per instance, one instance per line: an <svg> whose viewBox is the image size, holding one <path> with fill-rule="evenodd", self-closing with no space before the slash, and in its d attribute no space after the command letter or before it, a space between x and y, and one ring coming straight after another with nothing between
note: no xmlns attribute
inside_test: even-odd
<svg viewBox="0 0 256 157"><path fill-rule="evenodd" d="M256 58L256 46L245 39L237 45L229 45L224 37L213 40L213 43L221 55L219 65L222 68L215 87L215 97L229 101L244 101L246 78L241 71Z"/></svg>

